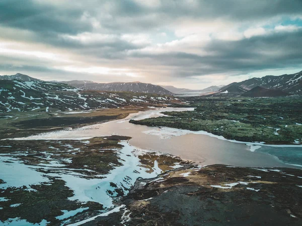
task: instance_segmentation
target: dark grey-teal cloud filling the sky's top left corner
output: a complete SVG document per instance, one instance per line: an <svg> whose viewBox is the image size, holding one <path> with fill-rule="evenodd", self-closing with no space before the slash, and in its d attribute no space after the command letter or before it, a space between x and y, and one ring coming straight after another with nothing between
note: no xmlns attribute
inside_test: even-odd
<svg viewBox="0 0 302 226"><path fill-rule="evenodd" d="M81 21L83 9L47 4L47 1L3 0L0 2L0 24L37 33L71 33L91 31L88 21Z"/></svg>

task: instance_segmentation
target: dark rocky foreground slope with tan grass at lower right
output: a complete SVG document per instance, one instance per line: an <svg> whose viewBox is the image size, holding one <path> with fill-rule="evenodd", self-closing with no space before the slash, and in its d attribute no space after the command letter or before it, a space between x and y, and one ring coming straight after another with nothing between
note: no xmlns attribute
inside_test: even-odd
<svg viewBox="0 0 302 226"><path fill-rule="evenodd" d="M301 197L301 170L187 165L136 181L119 208L82 225L300 225Z"/></svg>

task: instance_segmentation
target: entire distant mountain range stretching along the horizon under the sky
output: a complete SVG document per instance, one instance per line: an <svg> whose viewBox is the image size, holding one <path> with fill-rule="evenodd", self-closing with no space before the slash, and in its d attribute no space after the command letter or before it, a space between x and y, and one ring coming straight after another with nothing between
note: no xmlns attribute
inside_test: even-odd
<svg viewBox="0 0 302 226"><path fill-rule="evenodd" d="M13 76L0 76L0 80L18 80L23 82L43 82L42 80L35 79L27 76L26 74L17 73ZM293 74L283 74L281 76L265 76L262 78L252 78L242 82L231 83L226 86L211 86L202 90L190 90L183 88L176 88L174 86L158 86L148 83L132 82L132 83L95 83L93 81L64 81L53 83L63 83L69 86L83 89L83 90L97 90L97 91L109 91L109 92L134 92L134 93L154 93L159 95L174 95L174 94L190 94L198 92L215 92L217 95L243 95L256 87L262 87L268 89L257 88L253 91L253 95L257 96L255 92L259 92L259 95L268 95L271 90L280 90L285 94L302 94L302 71ZM271 94L273 96L282 92ZM248 93L249 94L249 93Z"/></svg>

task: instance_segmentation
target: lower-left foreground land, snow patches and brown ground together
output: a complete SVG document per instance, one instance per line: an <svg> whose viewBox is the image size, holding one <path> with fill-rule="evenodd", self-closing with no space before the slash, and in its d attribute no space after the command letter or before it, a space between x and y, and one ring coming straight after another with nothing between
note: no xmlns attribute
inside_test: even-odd
<svg viewBox="0 0 302 226"><path fill-rule="evenodd" d="M135 152L129 138L0 140L0 224L67 225L87 219L115 205L138 177L152 178L184 163Z"/></svg>

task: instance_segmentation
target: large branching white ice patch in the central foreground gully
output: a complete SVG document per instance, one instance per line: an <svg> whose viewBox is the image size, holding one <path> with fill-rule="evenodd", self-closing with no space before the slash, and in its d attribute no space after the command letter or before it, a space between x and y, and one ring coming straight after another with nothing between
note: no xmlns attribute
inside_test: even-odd
<svg viewBox="0 0 302 226"><path fill-rule="evenodd" d="M148 169L141 167L139 158L132 153L135 148L129 145L127 141L121 141L120 144L124 146L120 152L123 165L110 171L103 179L86 179L68 174L48 175L60 177L66 182L66 186L72 189L74 193L74 196L69 198L70 200L79 200L81 202L95 201L102 203L104 207L112 207L113 199L107 192L110 190L114 193L115 188L110 186L111 182L115 183L124 193L128 193L138 177L154 178L162 172L158 167L158 162L155 161L154 171L147 173Z"/></svg>

